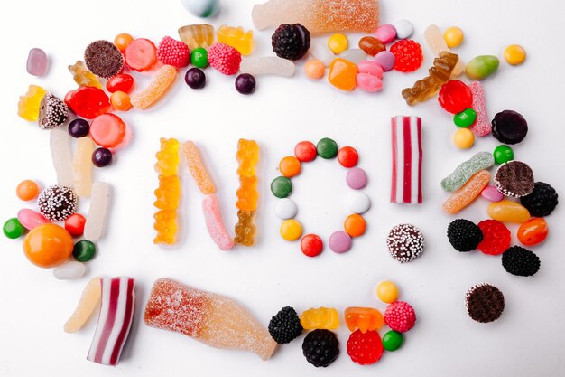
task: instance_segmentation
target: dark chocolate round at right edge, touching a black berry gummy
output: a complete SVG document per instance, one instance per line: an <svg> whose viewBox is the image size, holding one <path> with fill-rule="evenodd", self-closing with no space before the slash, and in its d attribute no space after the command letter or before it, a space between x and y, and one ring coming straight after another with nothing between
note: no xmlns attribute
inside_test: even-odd
<svg viewBox="0 0 565 377"><path fill-rule="evenodd" d="M520 161L509 161L496 170L496 189L506 196L521 198L529 195L533 192L534 182L532 168Z"/></svg>

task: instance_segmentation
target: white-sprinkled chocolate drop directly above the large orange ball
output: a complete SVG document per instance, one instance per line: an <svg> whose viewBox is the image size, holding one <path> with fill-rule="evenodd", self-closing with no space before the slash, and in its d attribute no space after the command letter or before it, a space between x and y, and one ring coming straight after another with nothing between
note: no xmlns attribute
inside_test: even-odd
<svg viewBox="0 0 565 377"><path fill-rule="evenodd" d="M47 187L37 198L39 211L49 221L65 221L77 212L79 197L67 186L55 184Z"/></svg>

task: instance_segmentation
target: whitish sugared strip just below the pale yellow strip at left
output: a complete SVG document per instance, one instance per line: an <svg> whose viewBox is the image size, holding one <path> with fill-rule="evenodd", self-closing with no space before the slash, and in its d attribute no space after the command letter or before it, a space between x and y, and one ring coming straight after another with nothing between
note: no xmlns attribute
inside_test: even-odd
<svg viewBox="0 0 565 377"><path fill-rule="evenodd" d="M97 241L102 237L106 226L108 207L110 206L110 185L105 182L92 184L92 197L88 209L87 223L84 226L84 238Z"/></svg>

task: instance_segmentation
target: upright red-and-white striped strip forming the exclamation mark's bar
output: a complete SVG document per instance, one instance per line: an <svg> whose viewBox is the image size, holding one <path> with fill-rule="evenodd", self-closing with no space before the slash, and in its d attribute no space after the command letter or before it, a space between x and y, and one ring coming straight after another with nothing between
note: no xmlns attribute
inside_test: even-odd
<svg viewBox="0 0 565 377"><path fill-rule="evenodd" d="M393 117L391 134L393 142L391 203L421 203L421 118L400 115Z"/></svg>

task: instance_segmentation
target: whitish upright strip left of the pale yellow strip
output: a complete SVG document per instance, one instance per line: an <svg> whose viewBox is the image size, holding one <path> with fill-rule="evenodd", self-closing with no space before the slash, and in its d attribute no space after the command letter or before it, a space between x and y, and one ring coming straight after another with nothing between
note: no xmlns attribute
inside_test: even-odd
<svg viewBox="0 0 565 377"><path fill-rule="evenodd" d="M57 183L62 186L72 187L74 178L72 174L72 151L70 149L69 132L60 128L53 128L50 133L51 159L57 174Z"/></svg>

